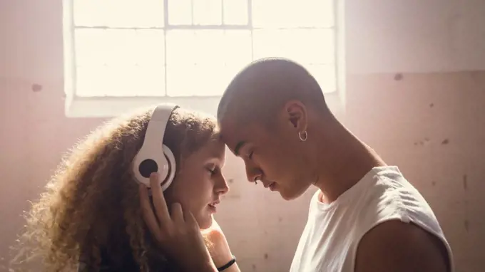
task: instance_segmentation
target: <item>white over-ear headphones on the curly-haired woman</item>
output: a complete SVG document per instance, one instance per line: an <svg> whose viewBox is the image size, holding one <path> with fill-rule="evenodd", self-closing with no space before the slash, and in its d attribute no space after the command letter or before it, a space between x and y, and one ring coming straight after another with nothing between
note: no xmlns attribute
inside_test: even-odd
<svg viewBox="0 0 485 272"><path fill-rule="evenodd" d="M133 159L133 174L138 182L150 188L150 174L158 172L162 191L165 191L175 177L175 156L172 150L163 145L167 122L178 105L158 105L148 121L145 140L140 151Z"/></svg>

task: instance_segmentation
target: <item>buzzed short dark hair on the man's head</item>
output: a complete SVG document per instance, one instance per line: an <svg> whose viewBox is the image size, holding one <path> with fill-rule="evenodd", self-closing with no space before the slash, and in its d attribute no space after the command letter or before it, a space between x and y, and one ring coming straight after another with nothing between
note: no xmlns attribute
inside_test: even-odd
<svg viewBox="0 0 485 272"><path fill-rule="evenodd" d="M307 69L287 58L262 58L242 68L230 82L218 106L218 120L230 115L241 125L271 125L290 100L329 111L320 85Z"/></svg>

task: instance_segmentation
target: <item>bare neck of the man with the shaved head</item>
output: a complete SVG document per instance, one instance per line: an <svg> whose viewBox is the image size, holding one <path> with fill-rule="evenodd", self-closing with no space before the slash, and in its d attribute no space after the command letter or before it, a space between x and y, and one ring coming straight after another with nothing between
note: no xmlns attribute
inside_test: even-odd
<svg viewBox="0 0 485 272"><path fill-rule="evenodd" d="M315 186L322 191L320 200L324 203L334 202L372 168L386 165L374 150L337 120L331 124L322 130L313 159L317 163Z"/></svg>

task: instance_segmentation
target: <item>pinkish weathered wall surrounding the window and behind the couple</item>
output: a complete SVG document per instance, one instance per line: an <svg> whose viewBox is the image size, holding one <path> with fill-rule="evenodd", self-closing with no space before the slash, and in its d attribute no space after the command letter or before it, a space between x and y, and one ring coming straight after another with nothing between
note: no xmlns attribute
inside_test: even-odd
<svg viewBox="0 0 485 272"><path fill-rule="evenodd" d="M427 197L459 272L485 265L484 3L345 8L346 123ZM63 117L61 38L61 1L0 1L0 271L27 201L61 154L101 122ZM287 271L312 192L284 202L249 186L243 171L228 159L232 190L218 221L243 271Z"/></svg>

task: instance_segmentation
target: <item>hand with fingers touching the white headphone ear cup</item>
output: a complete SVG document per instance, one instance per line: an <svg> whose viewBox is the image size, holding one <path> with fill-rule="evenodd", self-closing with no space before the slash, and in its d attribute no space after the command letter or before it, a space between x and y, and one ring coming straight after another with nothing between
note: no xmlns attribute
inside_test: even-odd
<svg viewBox="0 0 485 272"><path fill-rule="evenodd" d="M171 206L170 215L158 181L158 174L150 175L150 187L155 211L151 208L147 187L140 185L143 219L163 251L184 271L218 271L205 247L193 214L190 211L183 211L182 206L175 203Z"/></svg>

